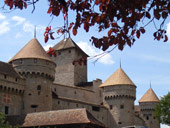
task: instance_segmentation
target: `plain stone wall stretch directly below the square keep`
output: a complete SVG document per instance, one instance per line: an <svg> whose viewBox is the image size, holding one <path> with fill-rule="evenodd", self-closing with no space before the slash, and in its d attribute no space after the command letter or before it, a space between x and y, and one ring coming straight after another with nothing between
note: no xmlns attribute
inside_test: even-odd
<svg viewBox="0 0 170 128"><path fill-rule="evenodd" d="M102 92L101 89L98 88L100 84L101 80L94 80L93 85L91 85L92 88L90 89L88 87L73 87L53 84L52 90L53 92L55 92L56 95L61 97L86 101L100 105L102 103Z"/></svg>

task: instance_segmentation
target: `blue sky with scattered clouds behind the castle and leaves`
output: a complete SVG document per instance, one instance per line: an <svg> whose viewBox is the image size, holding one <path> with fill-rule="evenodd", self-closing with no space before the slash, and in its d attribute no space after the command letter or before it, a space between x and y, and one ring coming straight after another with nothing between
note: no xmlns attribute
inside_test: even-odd
<svg viewBox="0 0 170 128"><path fill-rule="evenodd" d="M34 26L36 26L36 38L41 45L48 47L57 44L63 36L56 40L49 40L44 43L43 33L48 26L51 16L47 14L48 2L43 0L36 5L34 13L32 6L20 11L0 10L0 61L8 62L26 43L34 37ZM3 1L0 2L0 7ZM42 9L43 8L43 9ZM72 12L71 12L72 13ZM70 22L74 14L69 14ZM50 24L53 28L63 25L62 16L54 18ZM164 25L170 38L170 19ZM125 46L123 51L114 49L111 53L100 58L96 63L95 59L88 61L88 80L96 78L103 82L121 67L137 86L135 104L150 88L155 91L157 96L166 95L170 91L170 40L168 42L155 41L153 25L146 27L146 33L138 39L130 48ZM107 32L98 33L97 28L93 27L89 33L83 29L78 30L78 34L71 38L90 56L102 53L101 50L92 46L90 37L106 35ZM56 35L59 36L59 35ZM162 125L161 128L170 128Z"/></svg>

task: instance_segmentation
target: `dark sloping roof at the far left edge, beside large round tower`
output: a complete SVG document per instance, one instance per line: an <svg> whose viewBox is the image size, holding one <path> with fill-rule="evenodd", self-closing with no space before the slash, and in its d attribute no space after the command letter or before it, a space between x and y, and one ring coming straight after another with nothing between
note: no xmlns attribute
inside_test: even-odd
<svg viewBox="0 0 170 128"><path fill-rule="evenodd" d="M2 61L0 61L0 73L13 76L13 77L20 77L11 64Z"/></svg>

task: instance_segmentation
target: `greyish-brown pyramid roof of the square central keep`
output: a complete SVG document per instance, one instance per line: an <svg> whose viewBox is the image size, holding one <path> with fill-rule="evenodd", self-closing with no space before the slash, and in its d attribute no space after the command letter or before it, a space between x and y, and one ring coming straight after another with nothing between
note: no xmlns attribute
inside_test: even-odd
<svg viewBox="0 0 170 128"><path fill-rule="evenodd" d="M88 56L71 38L63 39L53 47L54 50L64 50L69 48L77 48L83 54Z"/></svg>

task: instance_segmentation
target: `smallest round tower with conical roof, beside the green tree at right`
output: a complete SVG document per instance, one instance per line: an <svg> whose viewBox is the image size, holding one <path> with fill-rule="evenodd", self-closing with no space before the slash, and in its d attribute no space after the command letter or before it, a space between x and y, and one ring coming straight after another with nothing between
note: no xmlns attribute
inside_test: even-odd
<svg viewBox="0 0 170 128"><path fill-rule="evenodd" d="M139 100L140 116L145 121L147 128L160 128L160 123L154 116L154 110L159 103L159 99L156 96L152 88L142 96Z"/></svg>

